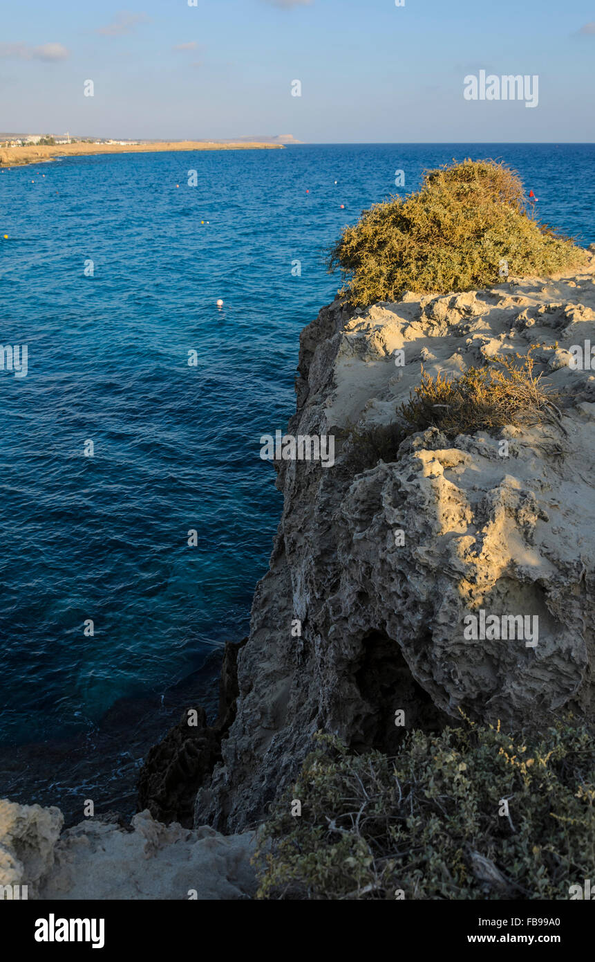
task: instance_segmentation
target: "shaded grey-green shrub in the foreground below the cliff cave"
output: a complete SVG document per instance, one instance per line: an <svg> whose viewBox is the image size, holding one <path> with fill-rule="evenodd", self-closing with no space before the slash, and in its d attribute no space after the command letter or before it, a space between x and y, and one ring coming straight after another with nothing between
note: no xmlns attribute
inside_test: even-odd
<svg viewBox="0 0 595 962"><path fill-rule="evenodd" d="M260 899L568 899L592 877L595 750L572 718L413 731L394 759L316 738L265 824Z"/></svg>

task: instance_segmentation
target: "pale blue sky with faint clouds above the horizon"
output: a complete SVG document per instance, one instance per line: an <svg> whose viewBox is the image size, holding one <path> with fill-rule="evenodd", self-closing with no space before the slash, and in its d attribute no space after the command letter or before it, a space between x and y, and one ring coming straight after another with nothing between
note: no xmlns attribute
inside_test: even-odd
<svg viewBox="0 0 595 962"><path fill-rule="evenodd" d="M0 131L593 142L595 0L397 2L5 3ZM481 70L536 75L536 106L466 99Z"/></svg>

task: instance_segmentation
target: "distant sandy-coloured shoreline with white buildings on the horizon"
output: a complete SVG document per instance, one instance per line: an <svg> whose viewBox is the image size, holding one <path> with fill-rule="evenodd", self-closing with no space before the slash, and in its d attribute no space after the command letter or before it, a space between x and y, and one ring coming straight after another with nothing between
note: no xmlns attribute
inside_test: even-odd
<svg viewBox="0 0 595 962"><path fill-rule="evenodd" d="M161 153L170 150L283 150L282 143L214 143L208 140L173 140L164 143L57 143L0 148L0 165L16 167L52 161L56 157L98 154Z"/></svg>

